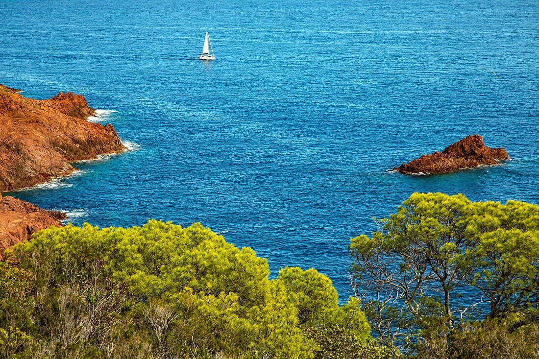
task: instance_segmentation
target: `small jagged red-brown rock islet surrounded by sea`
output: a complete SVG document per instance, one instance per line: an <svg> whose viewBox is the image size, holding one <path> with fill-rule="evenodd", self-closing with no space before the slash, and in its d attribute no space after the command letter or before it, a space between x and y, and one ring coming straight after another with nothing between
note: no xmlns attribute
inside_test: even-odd
<svg viewBox="0 0 539 359"><path fill-rule="evenodd" d="M443 152L423 155L393 170L404 174L437 174L478 167L481 164L499 164L501 160L509 160L505 149L488 148L483 142L483 137L469 135L465 139L451 144Z"/></svg>

